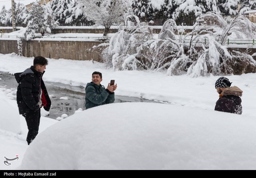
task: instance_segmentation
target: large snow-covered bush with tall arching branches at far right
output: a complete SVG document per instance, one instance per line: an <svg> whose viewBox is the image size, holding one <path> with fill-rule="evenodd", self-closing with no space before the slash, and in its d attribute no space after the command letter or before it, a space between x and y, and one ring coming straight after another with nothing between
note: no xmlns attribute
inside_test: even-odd
<svg viewBox="0 0 256 178"><path fill-rule="evenodd" d="M202 23L209 20L214 23ZM217 27L220 30L213 32L213 29ZM193 63L189 66L187 74L191 77L208 76L210 73L213 75L237 74L233 68L235 64L243 65L245 68L256 67L256 62L252 56L236 49L229 50L225 46L228 34L234 33L238 38L242 35L253 38L255 37L255 30L256 26L242 16L227 24L217 13L202 14L197 18L191 34L188 34L194 36L190 40L194 42L194 44L190 43L190 53L192 50L195 52L193 52L194 56L190 54L189 58ZM200 41L205 43L198 43Z"/></svg>

